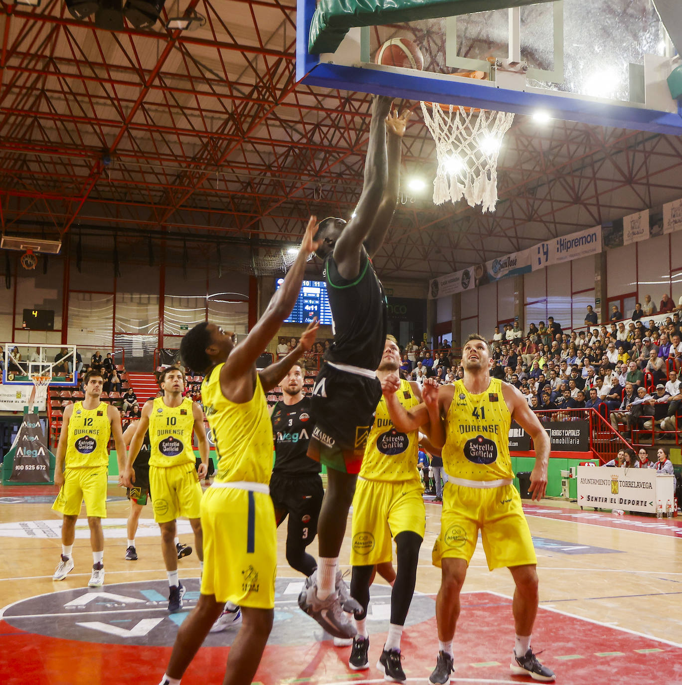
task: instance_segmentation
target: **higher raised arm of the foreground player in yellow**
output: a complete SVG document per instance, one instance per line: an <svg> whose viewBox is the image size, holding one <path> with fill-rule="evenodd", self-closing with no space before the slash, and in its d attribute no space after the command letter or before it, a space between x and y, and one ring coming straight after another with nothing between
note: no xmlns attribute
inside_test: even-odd
<svg viewBox="0 0 682 685"><path fill-rule="evenodd" d="M223 388L223 393L229 388L234 379L253 373L252 369L255 360L257 360L268 346L268 343L270 343L270 340L277 334L282 322L291 314L291 310L294 308L296 299L301 291L305 262L307 262L310 254L319 247L318 242L313 240L316 225L317 219L311 216L305 228L305 235L301 241L299 254L284 278L281 288L275 292L263 316L258 319L249 335L230 352L227 362L223 364L223 369L220 371L220 386ZM253 381L255 381L255 376L253 376ZM253 386L251 386L251 394L253 394ZM246 398L228 397L228 399L248 401L250 397L251 395Z"/></svg>

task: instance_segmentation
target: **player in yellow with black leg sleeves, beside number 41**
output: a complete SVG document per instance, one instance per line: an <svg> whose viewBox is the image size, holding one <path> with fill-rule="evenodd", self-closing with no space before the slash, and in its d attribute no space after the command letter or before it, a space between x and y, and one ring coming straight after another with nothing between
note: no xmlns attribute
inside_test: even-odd
<svg viewBox="0 0 682 685"><path fill-rule="evenodd" d="M400 348L393 336L386 338L377 378L383 381L400 368ZM421 401L418 384L401 380L397 399L407 409ZM375 564L390 563L392 538L398 557L396 578L391 592L391 617L388 637L377 669L385 680L405 682L401 665L401 636L417 577L419 549L424 539L425 508L423 488L417 470L418 431L396 430L383 397L377 405L374 425L365 447L359 482L353 499L351 543L351 595L362 604L355 612L357 634L349 666L354 671L369 667L369 636L366 630L369 588Z"/></svg>

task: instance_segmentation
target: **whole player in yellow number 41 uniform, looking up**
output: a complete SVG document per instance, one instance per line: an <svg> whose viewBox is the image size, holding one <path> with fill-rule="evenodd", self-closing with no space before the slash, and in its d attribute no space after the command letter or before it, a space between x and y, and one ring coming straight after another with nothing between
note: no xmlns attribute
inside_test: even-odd
<svg viewBox="0 0 682 685"><path fill-rule="evenodd" d="M422 388L424 403L407 411L394 395L398 378L390 377L383 384L396 427L408 430L429 425L431 442L443 448L448 475L440 536L433 547L433 564L441 567L442 579L435 603L438 660L429 680L450 680L459 593L480 530L488 568L507 566L516 584L511 673L551 681L554 673L531 649L538 612L538 561L521 499L512 485L509 425L516 421L533 438L535 466L529 491L537 500L544 497L547 487L549 438L525 397L514 386L490 377L491 351L485 338L469 336L462 350L462 366L464 379L454 385L439 388L427 379Z"/></svg>

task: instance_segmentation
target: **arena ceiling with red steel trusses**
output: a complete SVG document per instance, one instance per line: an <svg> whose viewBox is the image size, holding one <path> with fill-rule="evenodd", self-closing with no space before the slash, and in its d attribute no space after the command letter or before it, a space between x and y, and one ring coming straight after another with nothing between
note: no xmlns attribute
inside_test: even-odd
<svg viewBox="0 0 682 685"><path fill-rule="evenodd" d="M34 8L1 0L3 232L115 231L124 241L149 233L262 252L292 245L311 213L349 216L362 188L370 98L296 85L294 0L180 8L203 14L204 27L112 33L75 20L62 0ZM444 51L428 27L414 37L427 60ZM403 177L424 173L430 186L433 141L418 103L404 105L416 109ZM424 279L655 208L680 197L681 162L674 136L539 127L518 115L501 154L496 212L403 195L378 270Z"/></svg>

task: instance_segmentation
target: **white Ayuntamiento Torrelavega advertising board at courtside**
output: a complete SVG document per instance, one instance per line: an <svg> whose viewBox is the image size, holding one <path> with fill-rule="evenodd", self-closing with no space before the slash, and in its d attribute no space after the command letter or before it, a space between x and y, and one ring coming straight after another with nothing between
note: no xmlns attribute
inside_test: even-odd
<svg viewBox="0 0 682 685"><path fill-rule="evenodd" d="M623 509L654 514L672 506L674 477L658 476L655 469L618 469L578 466L578 503L600 509Z"/></svg>

